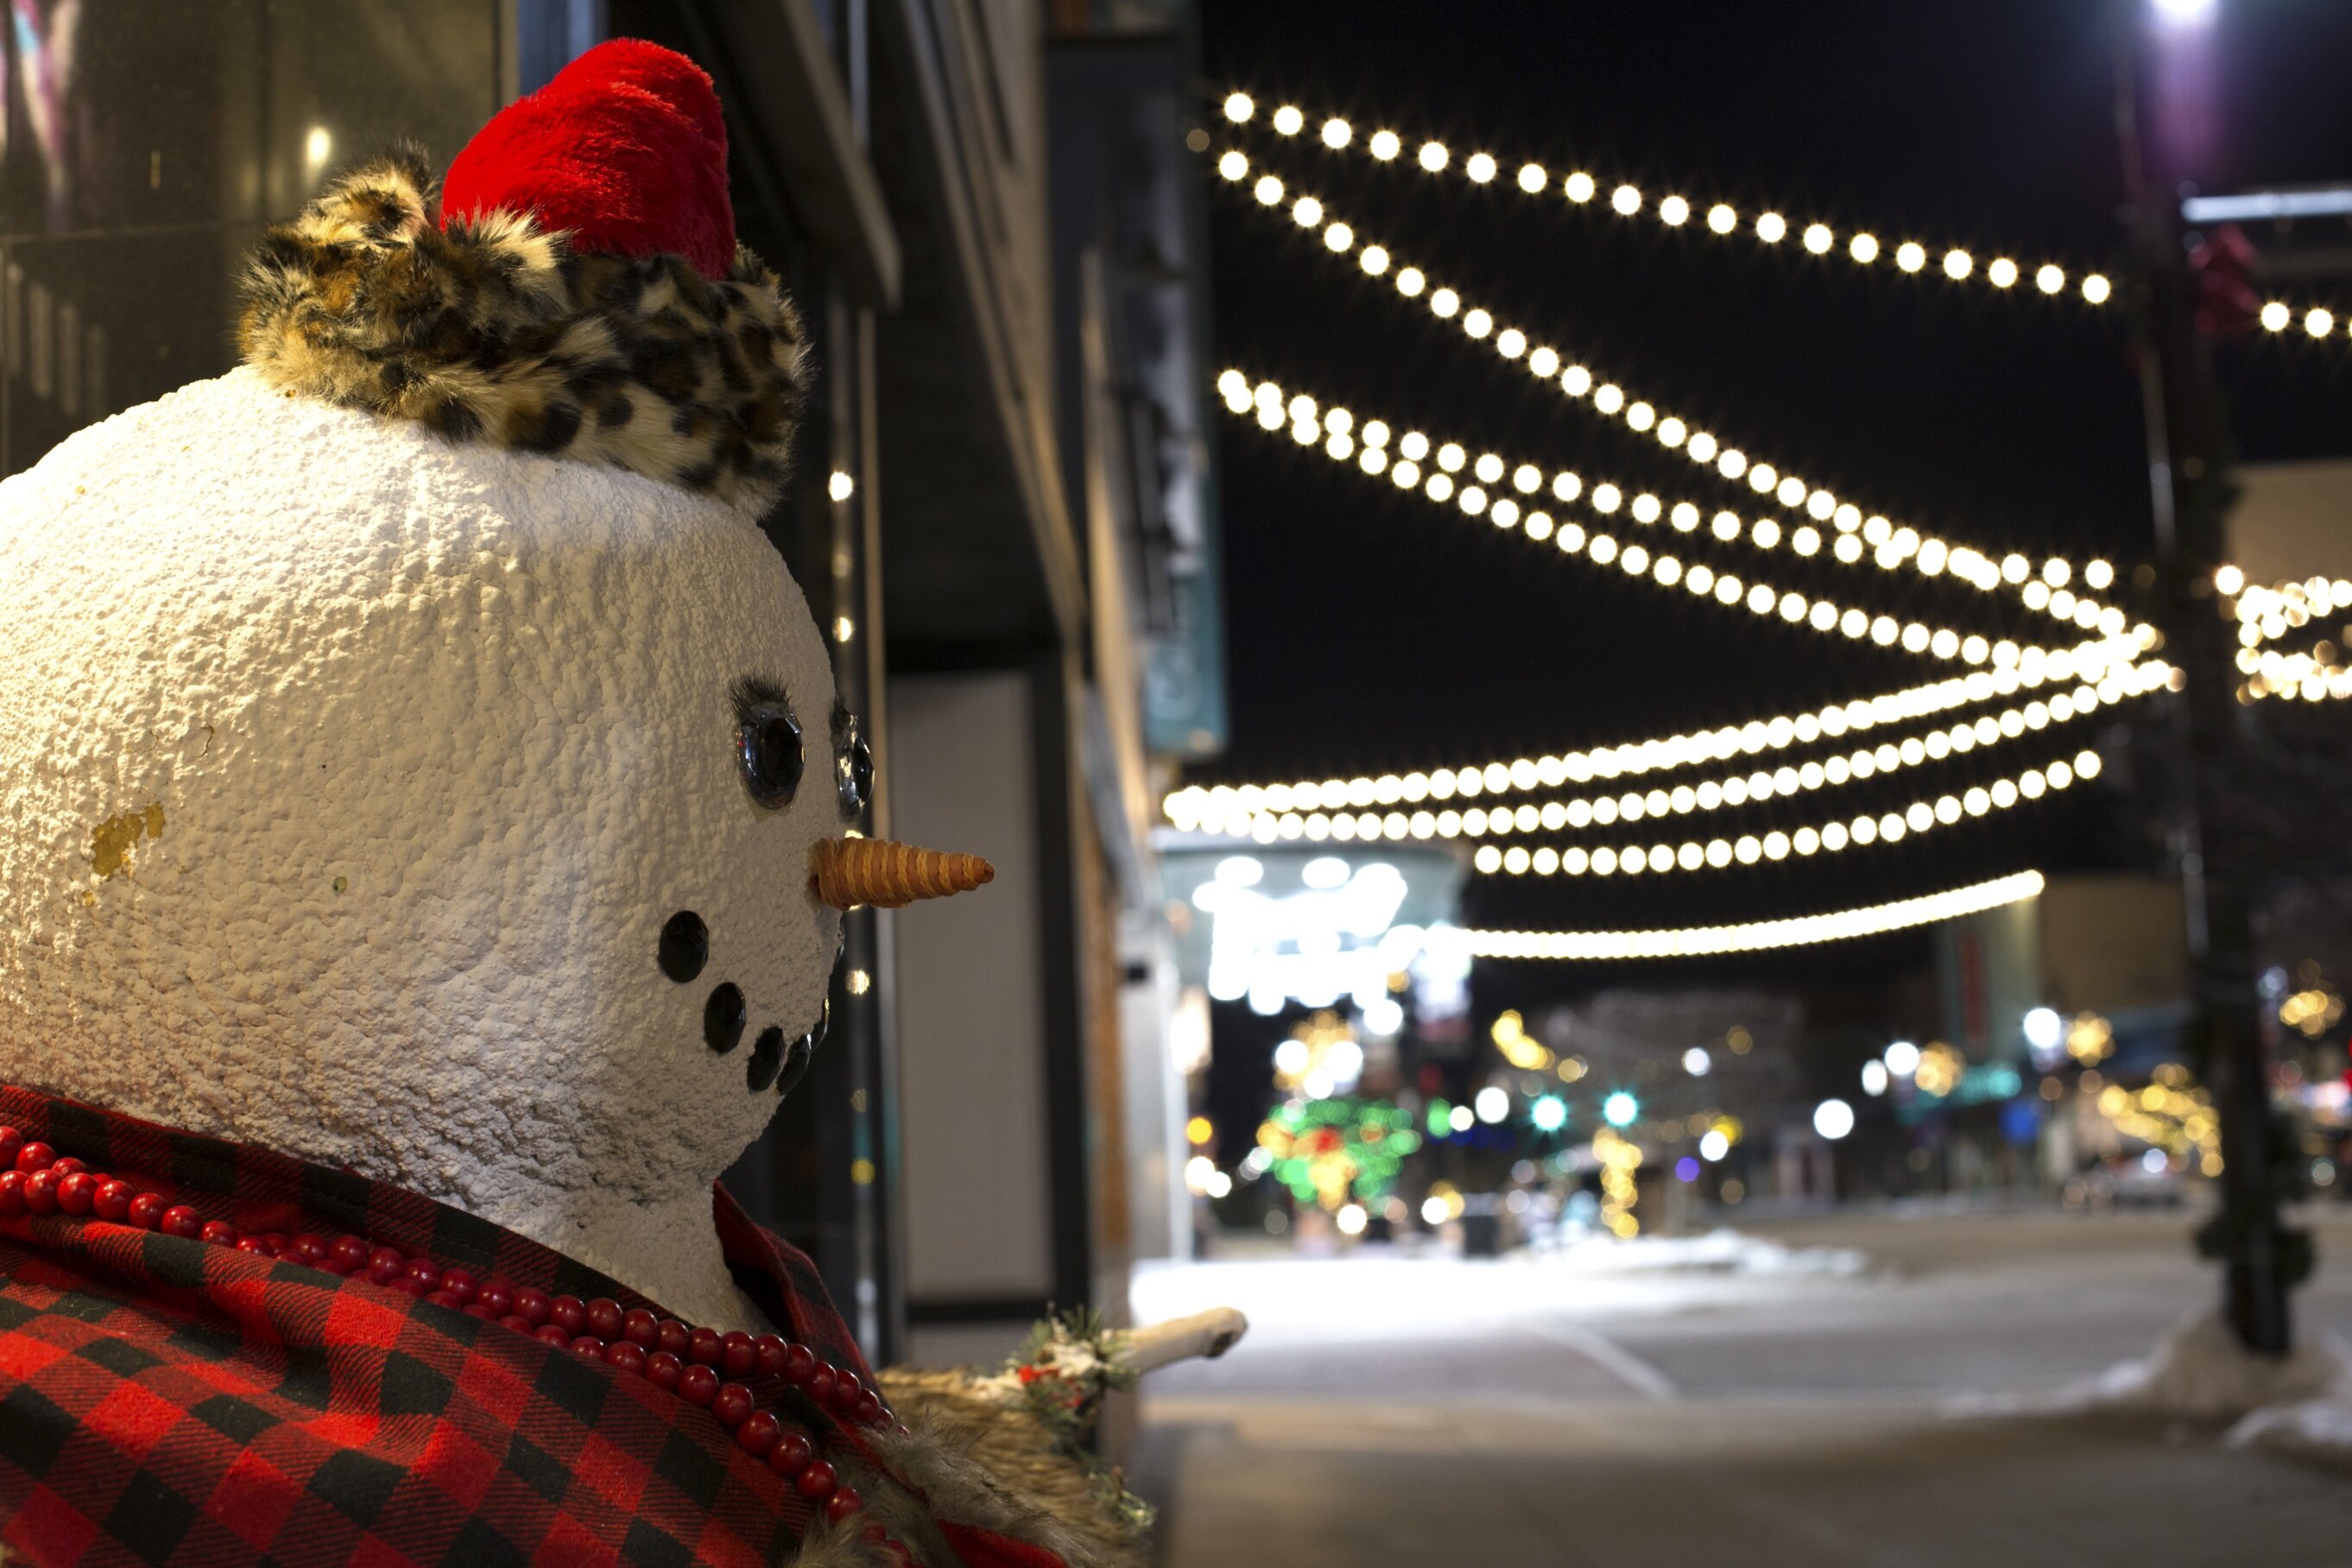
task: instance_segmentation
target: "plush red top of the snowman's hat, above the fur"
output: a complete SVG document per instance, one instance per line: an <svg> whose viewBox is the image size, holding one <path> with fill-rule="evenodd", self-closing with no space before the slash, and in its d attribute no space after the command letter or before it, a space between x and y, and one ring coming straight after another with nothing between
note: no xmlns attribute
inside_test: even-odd
<svg viewBox="0 0 2352 1568"><path fill-rule="evenodd" d="M734 207L710 78L642 38L588 49L452 160L442 228L487 212L527 212L583 252L675 254L727 277Z"/></svg>

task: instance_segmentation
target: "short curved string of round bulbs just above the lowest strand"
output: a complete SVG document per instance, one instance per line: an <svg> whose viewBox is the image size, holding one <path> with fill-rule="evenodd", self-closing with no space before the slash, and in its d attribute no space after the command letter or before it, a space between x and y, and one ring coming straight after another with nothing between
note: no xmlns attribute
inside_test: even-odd
<svg viewBox="0 0 2352 1568"><path fill-rule="evenodd" d="M1708 839L1705 844L1686 839L1682 844L1604 844L1599 849L1576 844L1552 849L1545 844L1529 851L1524 844L1512 844L1510 849L1479 844L1477 853L1470 856L1470 865L1484 875L1505 872L1510 877L1583 877L1588 872L1595 877L1637 877L1646 872L1724 870L1733 863L1755 865L1790 856L1835 856L1846 849L1867 849L1870 844L1898 844L1905 837L1950 827L1962 818L1985 816L1987 811L2009 811L2018 802L2037 802L2053 790L2065 790L2077 778L2098 778L2098 752L2082 750L2072 759L2060 757L2025 769L2013 778L1994 778L1990 788L1971 785L1959 795L1938 795L1931 802L1915 799L1903 811L1863 811L1849 820L1832 818L1820 825L1799 827L1797 832L1773 827L1764 835L1743 832L1738 839Z"/></svg>

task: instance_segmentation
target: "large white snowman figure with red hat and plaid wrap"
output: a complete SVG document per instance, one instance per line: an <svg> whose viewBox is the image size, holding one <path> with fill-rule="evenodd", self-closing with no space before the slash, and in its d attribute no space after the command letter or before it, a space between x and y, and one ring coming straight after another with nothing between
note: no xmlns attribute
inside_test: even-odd
<svg viewBox="0 0 2352 1568"><path fill-rule="evenodd" d="M851 827L708 78L341 176L240 348L0 482L0 1544L1129 1561L1084 1420L1232 1314L877 1380L715 1187L990 867Z"/></svg>

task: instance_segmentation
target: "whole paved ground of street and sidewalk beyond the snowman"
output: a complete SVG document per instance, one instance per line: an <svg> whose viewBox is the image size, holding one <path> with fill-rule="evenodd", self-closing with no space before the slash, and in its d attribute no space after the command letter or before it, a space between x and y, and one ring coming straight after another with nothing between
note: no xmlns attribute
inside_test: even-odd
<svg viewBox="0 0 2352 1568"><path fill-rule="evenodd" d="M2317 1218L2307 1333L2352 1331ZM1228 1260L1138 1281L1251 1335L1160 1373L1136 1481L1211 1563L2352 1563L2352 1467L2218 1429L1959 1406L2147 1354L2213 1295L2171 1215L1835 1215L1750 1227L1783 1272L1526 1258ZM1867 1274L1809 1248L1858 1248ZM1788 1272L1795 1269L1795 1272Z"/></svg>

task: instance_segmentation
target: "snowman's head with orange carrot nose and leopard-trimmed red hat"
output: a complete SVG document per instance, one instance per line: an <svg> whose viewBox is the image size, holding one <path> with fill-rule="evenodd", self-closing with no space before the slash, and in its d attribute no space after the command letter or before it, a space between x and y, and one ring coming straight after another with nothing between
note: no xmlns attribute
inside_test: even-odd
<svg viewBox="0 0 2352 1568"><path fill-rule="evenodd" d="M546 1234L760 1133L844 907L988 879L854 835L873 759L757 529L774 277L626 158L517 150L614 85L731 235L708 80L609 45L463 212L341 181L263 247L247 367L0 482L0 1079Z"/></svg>

